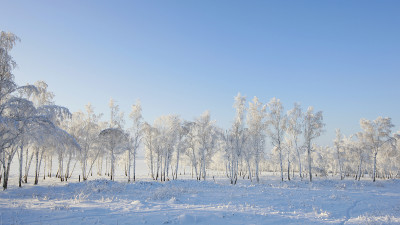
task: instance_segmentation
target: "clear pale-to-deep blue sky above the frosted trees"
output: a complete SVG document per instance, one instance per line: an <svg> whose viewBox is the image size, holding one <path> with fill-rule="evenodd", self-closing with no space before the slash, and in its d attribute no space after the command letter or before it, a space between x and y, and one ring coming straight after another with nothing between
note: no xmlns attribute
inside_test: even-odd
<svg viewBox="0 0 400 225"><path fill-rule="evenodd" d="M141 99L144 117L209 109L222 127L237 92L324 112L334 129L360 118L400 125L400 1L8 1L0 29L22 42L19 84L44 80L56 103L108 115ZM104 118L106 119L106 118ZM399 129L396 126L395 129Z"/></svg>

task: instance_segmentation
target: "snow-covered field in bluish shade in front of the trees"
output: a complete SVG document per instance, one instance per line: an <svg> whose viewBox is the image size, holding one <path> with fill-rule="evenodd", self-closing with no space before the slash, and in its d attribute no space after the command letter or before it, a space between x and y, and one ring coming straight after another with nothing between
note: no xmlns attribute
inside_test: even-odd
<svg viewBox="0 0 400 225"><path fill-rule="evenodd" d="M139 162L142 167L143 162ZM127 184L55 178L0 191L0 224L400 224L400 181L316 178L260 184L189 176L164 183L143 170ZM32 178L30 178L32 181Z"/></svg>

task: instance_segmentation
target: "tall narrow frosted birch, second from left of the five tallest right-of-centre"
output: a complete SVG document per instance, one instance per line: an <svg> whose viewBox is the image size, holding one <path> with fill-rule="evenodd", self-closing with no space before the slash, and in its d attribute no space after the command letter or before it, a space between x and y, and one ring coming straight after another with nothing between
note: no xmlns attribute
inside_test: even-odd
<svg viewBox="0 0 400 225"><path fill-rule="evenodd" d="M265 119L266 119L266 105L263 105L257 97L253 98L252 102L249 102L249 109L247 113L247 124L248 124L248 143L249 148L252 149L254 155L255 164L255 177L256 181L259 182L259 165L260 159L264 155L265 148ZM250 173L250 169L249 169Z"/></svg>

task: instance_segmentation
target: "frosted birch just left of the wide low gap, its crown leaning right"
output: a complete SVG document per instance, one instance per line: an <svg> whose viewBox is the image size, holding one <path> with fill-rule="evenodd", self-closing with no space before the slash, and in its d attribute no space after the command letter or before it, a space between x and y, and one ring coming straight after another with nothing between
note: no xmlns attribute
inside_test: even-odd
<svg viewBox="0 0 400 225"><path fill-rule="evenodd" d="M303 135L305 147L307 149L308 175L310 177L310 181L312 181L312 141L321 136L322 132L324 131L323 128L325 124L322 122L322 120L322 111L314 113L314 108L312 106L308 107L307 112L304 115Z"/></svg>

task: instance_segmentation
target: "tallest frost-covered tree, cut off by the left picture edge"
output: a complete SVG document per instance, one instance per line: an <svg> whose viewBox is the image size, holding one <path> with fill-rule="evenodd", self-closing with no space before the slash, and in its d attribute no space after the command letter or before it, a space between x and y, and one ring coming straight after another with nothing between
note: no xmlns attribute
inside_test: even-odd
<svg viewBox="0 0 400 225"><path fill-rule="evenodd" d="M7 188L10 165L17 149L21 150L21 136L27 134L26 126L38 116L31 101L22 95L37 94L33 85L19 87L14 82L12 70L17 66L9 51L19 38L7 32L0 34L0 161L3 169L3 188ZM19 145L19 147L17 147ZM20 165L23 160L20 156Z"/></svg>

